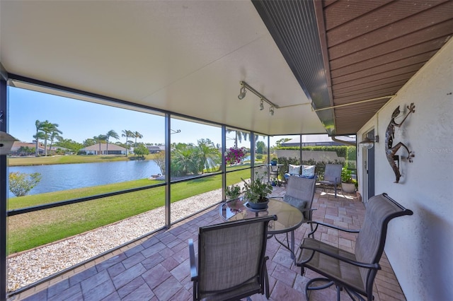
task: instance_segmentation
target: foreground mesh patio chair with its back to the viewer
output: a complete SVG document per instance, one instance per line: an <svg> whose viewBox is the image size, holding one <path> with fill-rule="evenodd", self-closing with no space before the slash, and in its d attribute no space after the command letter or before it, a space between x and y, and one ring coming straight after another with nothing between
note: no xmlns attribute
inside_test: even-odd
<svg viewBox="0 0 453 301"><path fill-rule="evenodd" d="M199 229L197 265L193 240L189 240L193 300L239 300L256 293L269 298L265 251L270 220L277 216Z"/></svg>

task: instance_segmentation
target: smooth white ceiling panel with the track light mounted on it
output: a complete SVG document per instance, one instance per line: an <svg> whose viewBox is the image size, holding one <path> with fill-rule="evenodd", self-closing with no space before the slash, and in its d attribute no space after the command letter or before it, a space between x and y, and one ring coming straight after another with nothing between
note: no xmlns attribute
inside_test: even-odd
<svg viewBox="0 0 453 301"><path fill-rule="evenodd" d="M261 134L325 133L251 1L0 1L0 13L8 73ZM239 81L284 108L239 100Z"/></svg>

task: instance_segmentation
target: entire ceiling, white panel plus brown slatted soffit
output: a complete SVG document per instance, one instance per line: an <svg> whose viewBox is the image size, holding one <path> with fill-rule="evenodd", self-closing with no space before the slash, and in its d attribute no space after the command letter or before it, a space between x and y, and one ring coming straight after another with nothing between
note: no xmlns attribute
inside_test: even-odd
<svg viewBox="0 0 453 301"><path fill-rule="evenodd" d="M453 34L453 1L0 1L0 30L11 77L262 134L354 134ZM239 100L239 81L282 108Z"/></svg>

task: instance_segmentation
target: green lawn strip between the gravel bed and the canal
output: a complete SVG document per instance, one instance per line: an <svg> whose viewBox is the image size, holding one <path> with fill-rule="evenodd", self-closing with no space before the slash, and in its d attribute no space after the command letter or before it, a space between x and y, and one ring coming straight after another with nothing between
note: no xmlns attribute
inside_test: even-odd
<svg viewBox="0 0 453 301"><path fill-rule="evenodd" d="M250 170L239 170L227 175L228 183L248 178ZM37 206L42 203L65 201L84 196L121 191L134 187L144 187L157 181L139 179L137 181L108 184L83 189L55 191L47 194L21 196L8 200L8 210ZM222 175L215 175L188 182L172 184L171 202L202 194L222 187ZM109 225L119 220L136 216L154 208L164 206L165 187L154 187L128 194L109 196L103 199L75 203L68 206L45 209L18 216L8 217L8 254L55 242L72 235ZM220 201L220 200L219 200Z"/></svg>

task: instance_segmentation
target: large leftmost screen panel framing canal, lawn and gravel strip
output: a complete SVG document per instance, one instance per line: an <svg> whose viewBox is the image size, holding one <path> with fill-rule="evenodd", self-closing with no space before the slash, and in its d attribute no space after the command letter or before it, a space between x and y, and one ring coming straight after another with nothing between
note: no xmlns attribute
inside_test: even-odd
<svg viewBox="0 0 453 301"><path fill-rule="evenodd" d="M46 92L8 87L8 291L166 224L165 114Z"/></svg>

